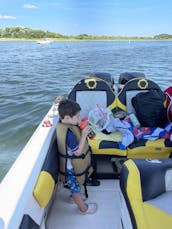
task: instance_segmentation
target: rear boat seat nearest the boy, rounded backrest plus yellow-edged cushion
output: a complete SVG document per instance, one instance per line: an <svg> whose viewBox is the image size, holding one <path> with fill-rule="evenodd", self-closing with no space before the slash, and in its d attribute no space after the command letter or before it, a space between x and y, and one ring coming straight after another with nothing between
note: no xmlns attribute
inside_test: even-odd
<svg viewBox="0 0 172 229"><path fill-rule="evenodd" d="M88 116L89 111L94 109L96 104L102 108L108 107L112 113L116 107L114 92L104 80L96 77L80 80L69 93L68 98L80 104L81 118ZM126 156L126 150L121 150L118 146L120 136L117 132L109 136L96 130L95 132L96 138L89 140L94 154Z"/></svg>

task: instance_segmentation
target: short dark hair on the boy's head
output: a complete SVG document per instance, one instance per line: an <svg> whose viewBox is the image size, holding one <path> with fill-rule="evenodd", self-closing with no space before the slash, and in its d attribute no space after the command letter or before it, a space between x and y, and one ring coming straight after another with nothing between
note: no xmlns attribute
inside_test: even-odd
<svg viewBox="0 0 172 229"><path fill-rule="evenodd" d="M81 110L80 105L69 99L64 99L60 101L59 107L58 107L58 111L59 111L59 115L61 119L63 119L65 115L69 115L70 117L73 117L80 110Z"/></svg>

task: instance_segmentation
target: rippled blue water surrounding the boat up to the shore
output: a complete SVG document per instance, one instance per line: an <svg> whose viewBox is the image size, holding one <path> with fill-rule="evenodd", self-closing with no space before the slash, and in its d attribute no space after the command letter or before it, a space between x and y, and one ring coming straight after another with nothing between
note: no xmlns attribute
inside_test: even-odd
<svg viewBox="0 0 172 229"><path fill-rule="evenodd" d="M0 42L0 180L58 95L90 72L141 71L172 85L172 42ZM34 146L33 146L34 147Z"/></svg>

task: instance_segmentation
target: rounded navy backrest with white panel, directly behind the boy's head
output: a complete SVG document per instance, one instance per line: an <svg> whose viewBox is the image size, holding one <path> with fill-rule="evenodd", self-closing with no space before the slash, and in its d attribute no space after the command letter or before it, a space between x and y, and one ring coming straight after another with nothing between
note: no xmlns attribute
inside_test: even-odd
<svg viewBox="0 0 172 229"><path fill-rule="evenodd" d="M82 79L74 86L68 98L80 104L81 118L88 116L96 104L102 108L109 107L112 111L115 106L115 94L109 85L99 78Z"/></svg>

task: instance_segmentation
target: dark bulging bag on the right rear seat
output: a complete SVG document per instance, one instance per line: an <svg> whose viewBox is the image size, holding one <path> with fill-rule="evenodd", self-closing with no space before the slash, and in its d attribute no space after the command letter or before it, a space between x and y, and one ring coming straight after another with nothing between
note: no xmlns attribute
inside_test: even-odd
<svg viewBox="0 0 172 229"><path fill-rule="evenodd" d="M160 90L141 92L132 98L132 105L142 126L162 127L168 122L164 101L165 94Z"/></svg>

